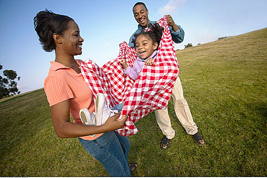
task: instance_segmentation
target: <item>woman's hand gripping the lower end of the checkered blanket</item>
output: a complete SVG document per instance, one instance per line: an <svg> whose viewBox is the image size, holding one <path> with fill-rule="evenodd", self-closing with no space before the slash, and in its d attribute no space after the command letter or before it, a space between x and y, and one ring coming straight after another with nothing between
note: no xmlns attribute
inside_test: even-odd
<svg viewBox="0 0 267 178"><path fill-rule="evenodd" d="M125 115L121 120L119 120L118 118L120 114L121 114L120 112L115 113L114 116L111 116L110 118L108 118L105 124L102 125L102 127L104 128L104 130L106 130L106 132L121 129L124 127L125 121L127 119L127 115Z"/></svg>

